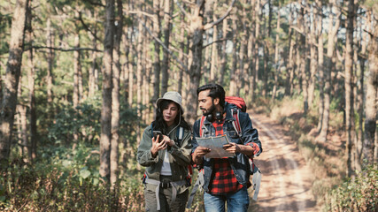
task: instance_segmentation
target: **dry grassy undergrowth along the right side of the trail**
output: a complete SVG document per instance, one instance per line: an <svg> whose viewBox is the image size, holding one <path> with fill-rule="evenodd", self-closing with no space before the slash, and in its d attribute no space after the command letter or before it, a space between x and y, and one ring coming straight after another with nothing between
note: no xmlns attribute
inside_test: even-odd
<svg viewBox="0 0 378 212"><path fill-rule="evenodd" d="M345 137L343 112L332 102L330 128L326 142L317 140L318 108L304 114L301 96L283 98L274 104L259 99L255 112L264 113L285 127L287 135L297 142L299 152L313 170L312 193L323 211L377 211L378 171L363 166L356 178L345 175Z"/></svg>

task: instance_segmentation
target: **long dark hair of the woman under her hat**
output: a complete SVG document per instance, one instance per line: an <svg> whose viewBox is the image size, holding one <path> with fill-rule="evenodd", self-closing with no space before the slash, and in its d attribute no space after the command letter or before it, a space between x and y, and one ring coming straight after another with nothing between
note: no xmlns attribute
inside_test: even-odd
<svg viewBox="0 0 378 212"><path fill-rule="evenodd" d="M163 100L162 102L160 102L160 105L158 105L158 108L156 109L156 119L152 122L153 130L159 130L159 131L165 131L166 132L166 128L168 126L166 125L166 121L164 120L164 117L163 117L163 110L171 102L173 102L173 101ZM181 110L180 105L177 104L176 102L174 102L174 104L176 104L177 108L179 109L179 113L177 113L177 116L174 118L174 125L178 125L180 123L179 126L190 131L190 129L191 129L190 126L185 121L184 117L182 116L182 110Z"/></svg>

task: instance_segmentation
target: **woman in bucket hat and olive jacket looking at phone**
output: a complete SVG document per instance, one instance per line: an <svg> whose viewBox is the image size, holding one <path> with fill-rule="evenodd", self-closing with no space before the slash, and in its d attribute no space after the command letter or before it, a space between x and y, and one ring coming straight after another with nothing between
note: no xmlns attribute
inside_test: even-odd
<svg viewBox="0 0 378 212"><path fill-rule="evenodd" d="M189 197L190 126L182 117L181 95L166 92L156 102L156 119L144 129L138 163L143 178L146 211L185 211ZM153 132L161 132L154 137ZM159 141L160 140L160 141Z"/></svg>

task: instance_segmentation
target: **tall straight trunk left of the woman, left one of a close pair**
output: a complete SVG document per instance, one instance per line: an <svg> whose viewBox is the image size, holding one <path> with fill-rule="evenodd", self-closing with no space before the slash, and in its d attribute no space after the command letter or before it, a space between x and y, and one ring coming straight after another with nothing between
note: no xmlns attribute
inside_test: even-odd
<svg viewBox="0 0 378 212"><path fill-rule="evenodd" d="M109 184L112 140L112 51L114 37L114 0L106 0L104 32L103 107L101 110L100 176ZM108 185L109 186L109 185Z"/></svg>

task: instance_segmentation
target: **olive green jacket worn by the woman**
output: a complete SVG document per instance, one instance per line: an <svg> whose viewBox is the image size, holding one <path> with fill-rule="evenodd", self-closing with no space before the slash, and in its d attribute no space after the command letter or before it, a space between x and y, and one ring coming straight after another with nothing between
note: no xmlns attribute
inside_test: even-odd
<svg viewBox="0 0 378 212"><path fill-rule="evenodd" d="M171 131L175 125L168 127L167 132ZM169 153L169 162L171 163L172 180L181 181L185 180L188 176L188 165L190 164L190 152L191 152L191 133L189 130L184 130L184 134L181 143L178 143L177 131L179 127L174 129L168 136L171 140L174 140L174 146L167 147ZM167 132L162 132L166 134ZM148 178L159 180L160 170L163 165L163 160L166 155L166 150L159 150L158 155L153 158L150 152L152 147L152 132L151 125L144 129L143 138L138 147L137 160L138 163L146 167L146 174ZM151 187L150 187L151 186ZM155 191L156 186L148 185L147 188ZM149 189L149 190L150 190ZM177 193L182 193L187 189L187 186L181 186L177 188Z"/></svg>

